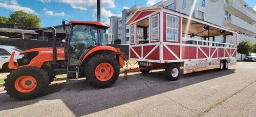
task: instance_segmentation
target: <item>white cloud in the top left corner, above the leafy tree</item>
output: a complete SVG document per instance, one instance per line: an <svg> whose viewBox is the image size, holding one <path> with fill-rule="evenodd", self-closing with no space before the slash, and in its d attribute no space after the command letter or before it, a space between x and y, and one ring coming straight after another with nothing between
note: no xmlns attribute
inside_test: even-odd
<svg viewBox="0 0 256 117"><path fill-rule="evenodd" d="M9 9L9 10L13 10L13 11L22 10L22 11L24 11L26 13L31 13L31 14L39 15L34 10L32 10L32 9L30 9L28 7L19 6L16 0L0 1L0 7L5 8L5 9Z"/></svg>

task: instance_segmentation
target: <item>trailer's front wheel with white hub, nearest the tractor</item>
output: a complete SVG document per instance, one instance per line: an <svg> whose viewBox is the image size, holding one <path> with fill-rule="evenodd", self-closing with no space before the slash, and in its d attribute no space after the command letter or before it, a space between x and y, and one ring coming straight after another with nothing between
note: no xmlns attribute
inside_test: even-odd
<svg viewBox="0 0 256 117"><path fill-rule="evenodd" d="M170 81L176 81L180 78L180 67L177 64L168 65L165 68L165 76Z"/></svg>

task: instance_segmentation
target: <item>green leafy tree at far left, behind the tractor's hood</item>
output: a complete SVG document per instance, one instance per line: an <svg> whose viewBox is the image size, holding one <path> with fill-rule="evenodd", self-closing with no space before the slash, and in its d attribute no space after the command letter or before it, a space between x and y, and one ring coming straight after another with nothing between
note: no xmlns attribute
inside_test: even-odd
<svg viewBox="0 0 256 117"><path fill-rule="evenodd" d="M40 18L23 11L15 11L10 14L9 22L15 26L40 28Z"/></svg>

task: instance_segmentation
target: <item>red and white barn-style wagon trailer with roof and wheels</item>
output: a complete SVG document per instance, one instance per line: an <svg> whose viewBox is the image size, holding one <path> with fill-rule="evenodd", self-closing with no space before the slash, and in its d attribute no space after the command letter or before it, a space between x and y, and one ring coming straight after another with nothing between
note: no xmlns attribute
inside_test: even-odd
<svg viewBox="0 0 256 117"><path fill-rule="evenodd" d="M192 15L192 13L191 13ZM236 64L237 32L161 6L138 9L130 27L130 58L142 73L165 69L169 80ZM146 68L145 68L146 67Z"/></svg>

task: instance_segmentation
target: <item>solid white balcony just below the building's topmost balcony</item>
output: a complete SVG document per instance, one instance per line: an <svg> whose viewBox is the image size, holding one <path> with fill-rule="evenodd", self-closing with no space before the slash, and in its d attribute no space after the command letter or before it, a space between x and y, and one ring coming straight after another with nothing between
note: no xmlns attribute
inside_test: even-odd
<svg viewBox="0 0 256 117"><path fill-rule="evenodd" d="M256 33L256 27L254 27L253 25L249 24L248 22L234 15L231 15L230 17L225 18L223 21L223 25L230 29L243 31L248 34Z"/></svg>

